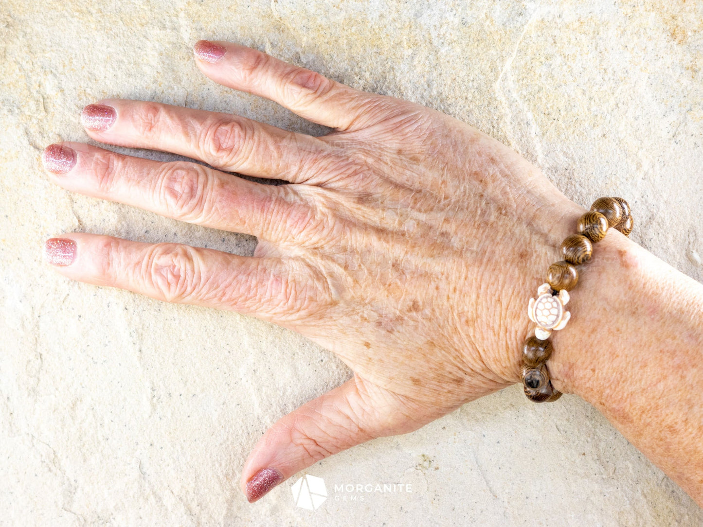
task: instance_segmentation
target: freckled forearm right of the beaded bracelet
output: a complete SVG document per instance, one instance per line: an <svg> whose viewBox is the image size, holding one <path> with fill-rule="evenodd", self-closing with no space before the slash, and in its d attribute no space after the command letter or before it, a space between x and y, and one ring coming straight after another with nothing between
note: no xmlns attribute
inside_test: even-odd
<svg viewBox="0 0 703 527"><path fill-rule="evenodd" d="M619 233L594 248L555 332L555 387L598 408L703 505L703 285Z"/></svg>

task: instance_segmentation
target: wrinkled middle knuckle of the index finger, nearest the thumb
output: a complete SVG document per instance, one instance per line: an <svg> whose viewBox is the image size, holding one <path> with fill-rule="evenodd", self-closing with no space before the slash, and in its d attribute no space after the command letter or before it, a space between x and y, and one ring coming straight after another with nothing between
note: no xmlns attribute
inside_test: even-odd
<svg viewBox="0 0 703 527"><path fill-rule="evenodd" d="M200 284L198 260L192 247L160 243L150 248L143 280L168 302L195 295Z"/></svg>

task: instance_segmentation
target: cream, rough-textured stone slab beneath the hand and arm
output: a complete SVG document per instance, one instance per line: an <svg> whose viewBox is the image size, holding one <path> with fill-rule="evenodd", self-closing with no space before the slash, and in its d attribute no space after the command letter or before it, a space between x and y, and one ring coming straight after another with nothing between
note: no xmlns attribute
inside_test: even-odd
<svg viewBox="0 0 703 527"><path fill-rule="evenodd" d="M86 141L79 112L103 97L323 133L203 77L191 46L228 39L463 119L583 205L626 197L632 238L703 281L702 35L695 0L4 0L0 524L703 524L589 405L532 405L517 386L308 471L330 494L412 493L330 495L312 512L294 507L291 479L247 504L237 481L257 438L349 370L254 318L53 273L43 242L71 230L240 254L255 240L67 193L40 163L53 141Z"/></svg>

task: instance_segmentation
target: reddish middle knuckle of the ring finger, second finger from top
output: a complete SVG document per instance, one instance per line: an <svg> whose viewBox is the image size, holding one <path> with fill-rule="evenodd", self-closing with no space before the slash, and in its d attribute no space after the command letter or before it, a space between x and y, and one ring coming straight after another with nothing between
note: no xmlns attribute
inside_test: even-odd
<svg viewBox="0 0 703 527"><path fill-rule="evenodd" d="M238 160L247 157L243 148L252 136L247 127L233 119L211 119L205 124L200 151L218 167L236 168Z"/></svg>

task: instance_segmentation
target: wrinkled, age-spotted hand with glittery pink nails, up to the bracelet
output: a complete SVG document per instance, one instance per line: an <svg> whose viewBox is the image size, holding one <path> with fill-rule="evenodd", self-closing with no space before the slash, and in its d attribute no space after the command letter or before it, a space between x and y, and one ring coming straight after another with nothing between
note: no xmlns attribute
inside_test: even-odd
<svg viewBox="0 0 703 527"><path fill-rule="evenodd" d="M241 482L249 500L323 457L519 381L527 300L584 209L447 115L236 44L201 41L195 56L214 81L333 131L316 138L236 115L103 100L82 115L91 138L214 168L82 143L49 146L44 164L68 190L255 235L254 255L72 233L49 240L47 256L75 280L283 325L352 368L352 379L254 446Z"/></svg>

